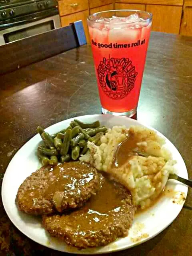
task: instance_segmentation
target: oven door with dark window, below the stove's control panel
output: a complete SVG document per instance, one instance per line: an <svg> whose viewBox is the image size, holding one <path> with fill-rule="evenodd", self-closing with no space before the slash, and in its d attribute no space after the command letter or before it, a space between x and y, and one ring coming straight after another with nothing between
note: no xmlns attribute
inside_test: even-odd
<svg viewBox="0 0 192 256"><path fill-rule="evenodd" d="M30 15L18 22L19 25L18 23L14 22L12 24L7 24L8 28L0 30L0 45L61 27L60 17L58 14L46 18L38 16L34 19L32 19Z"/></svg>

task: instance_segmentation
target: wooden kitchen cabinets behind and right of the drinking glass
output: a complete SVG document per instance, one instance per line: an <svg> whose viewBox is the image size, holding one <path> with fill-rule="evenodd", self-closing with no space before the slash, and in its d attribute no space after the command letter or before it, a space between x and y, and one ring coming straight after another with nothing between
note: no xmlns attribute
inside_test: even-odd
<svg viewBox="0 0 192 256"><path fill-rule="evenodd" d="M115 9L152 12L152 30L192 36L192 0L115 0Z"/></svg>

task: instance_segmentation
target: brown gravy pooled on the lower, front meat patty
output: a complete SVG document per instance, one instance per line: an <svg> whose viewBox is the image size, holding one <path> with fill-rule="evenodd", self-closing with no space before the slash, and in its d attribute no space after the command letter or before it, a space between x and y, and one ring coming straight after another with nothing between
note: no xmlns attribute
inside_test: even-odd
<svg viewBox="0 0 192 256"><path fill-rule="evenodd" d="M80 232L81 235L82 230L94 232L94 228L102 229L103 224L113 222L118 213L122 215L127 212L124 199L130 194L120 184L109 180L107 176L105 178L102 189L95 196L81 209L64 217L72 229L77 228L77 234Z"/></svg>

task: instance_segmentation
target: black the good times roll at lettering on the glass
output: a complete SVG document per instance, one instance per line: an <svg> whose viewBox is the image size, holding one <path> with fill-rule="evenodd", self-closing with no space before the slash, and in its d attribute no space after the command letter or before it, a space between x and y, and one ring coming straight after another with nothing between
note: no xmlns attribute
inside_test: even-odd
<svg viewBox="0 0 192 256"><path fill-rule="evenodd" d="M137 42L133 42L133 43L129 43L129 44L117 44L117 43L101 44L98 42L94 42L94 40L92 40L92 44L98 48L109 48L109 49L131 48L131 47L137 47L142 44L145 44L145 39L137 40Z"/></svg>

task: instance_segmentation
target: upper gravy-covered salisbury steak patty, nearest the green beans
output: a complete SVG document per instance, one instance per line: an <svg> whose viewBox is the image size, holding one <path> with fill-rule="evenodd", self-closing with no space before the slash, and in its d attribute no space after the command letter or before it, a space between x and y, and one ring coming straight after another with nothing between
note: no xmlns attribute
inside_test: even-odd
<svg viewBox="0 0 192 256"><path fill-rule="evenodd" d="M16 204L28 214L62 212L81 207L100 190L103 182L95 168L78 161L42 167L21 184Z"/></svg>

